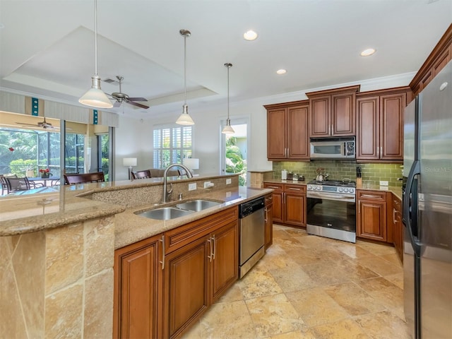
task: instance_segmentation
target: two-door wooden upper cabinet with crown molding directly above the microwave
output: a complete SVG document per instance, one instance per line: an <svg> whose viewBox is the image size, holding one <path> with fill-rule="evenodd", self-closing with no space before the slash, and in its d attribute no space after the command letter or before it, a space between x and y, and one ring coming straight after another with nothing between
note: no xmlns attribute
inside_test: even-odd
<svg viewBox="0 0 452 339"><path fill-rule="evenodd" d="M309 136L355 136L355 101L359 85L306 93Z"/></svg>

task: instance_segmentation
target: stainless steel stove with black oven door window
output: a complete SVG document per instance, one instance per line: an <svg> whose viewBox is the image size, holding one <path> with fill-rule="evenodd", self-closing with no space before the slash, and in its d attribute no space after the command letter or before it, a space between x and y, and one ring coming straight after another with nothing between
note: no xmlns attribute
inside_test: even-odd
<svg viewBox="0 0 452 339"><path fill-rule="evenodd" d="M356 242L356 184L316 180L307 184L307 232Z"/></svg>

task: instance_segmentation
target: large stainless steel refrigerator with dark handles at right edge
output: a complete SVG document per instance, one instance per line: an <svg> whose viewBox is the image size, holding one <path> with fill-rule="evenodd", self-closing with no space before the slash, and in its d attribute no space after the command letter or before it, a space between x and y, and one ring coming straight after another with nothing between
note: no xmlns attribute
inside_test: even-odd
<svg viewBox="0 0 452 339"><path fill-rule="evenodd" d="M405 109L404 308L412 338L452 338L452 61Z"/></svg>

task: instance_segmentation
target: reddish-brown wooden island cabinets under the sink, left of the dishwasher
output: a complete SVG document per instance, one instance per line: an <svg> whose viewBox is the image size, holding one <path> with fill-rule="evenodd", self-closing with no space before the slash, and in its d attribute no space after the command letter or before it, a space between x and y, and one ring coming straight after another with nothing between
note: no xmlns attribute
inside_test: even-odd
<svg viewBox="0 0 452 339"><path fill-rule="evenodd" d="M238 208L115 251L114 338L180 338L239 278Z"/></svg>

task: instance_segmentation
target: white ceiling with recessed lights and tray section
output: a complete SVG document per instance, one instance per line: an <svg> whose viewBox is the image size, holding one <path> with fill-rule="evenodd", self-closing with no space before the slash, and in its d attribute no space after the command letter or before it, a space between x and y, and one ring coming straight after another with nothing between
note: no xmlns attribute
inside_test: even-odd
<svg viewBox="0 0 452 339"><path fill-rule="evenodd" d="M417 71L452 22L452 0L97 2L100 77L124 76L122 92L150 104L109 111L140 119L182 112L180 29L192 110L225 103L225 62L230 102ZM94 60L94 0L0 0L0 88L79 105Z"/></svg>

